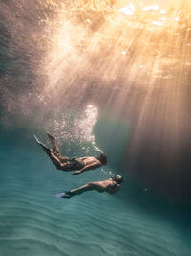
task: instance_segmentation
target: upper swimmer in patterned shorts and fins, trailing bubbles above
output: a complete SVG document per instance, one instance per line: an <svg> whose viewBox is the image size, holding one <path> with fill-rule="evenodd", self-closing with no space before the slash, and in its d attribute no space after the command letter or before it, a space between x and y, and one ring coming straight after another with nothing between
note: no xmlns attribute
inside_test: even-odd
<svg viewBox="0 0 191 256"><path fill-rule="evenodd" d="M61 156L61 153L56 145L55 138L46 132L53 146L53 150L49 149L46 145L38 140L34 135L37 143L43 148L43 150L49 155L53 164L57 170L61 171L74 171L73 175L79 175L85 171L96 169L102 165L107 164L107 157L104 153L100 153L99 156L85 156L78 158L68 158L66 156Z"/></svg>

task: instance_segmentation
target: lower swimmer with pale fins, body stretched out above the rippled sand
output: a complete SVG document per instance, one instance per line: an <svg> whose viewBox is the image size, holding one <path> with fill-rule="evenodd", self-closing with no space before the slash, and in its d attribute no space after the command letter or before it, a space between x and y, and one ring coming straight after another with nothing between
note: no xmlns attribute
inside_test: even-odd
<svg viewBox="0 0 191 256"><path fill-rule="evenodd" d="M117 175L115 177L111 177L106 180L89 182L86 185L77 189L73 189L67 192L57 193L56 197L70 199L76 195L82 194L85 191L92 191L92 190L114 194L120 189L121 183L123 181L124 181L123 177L120 175Z"/></svg>

